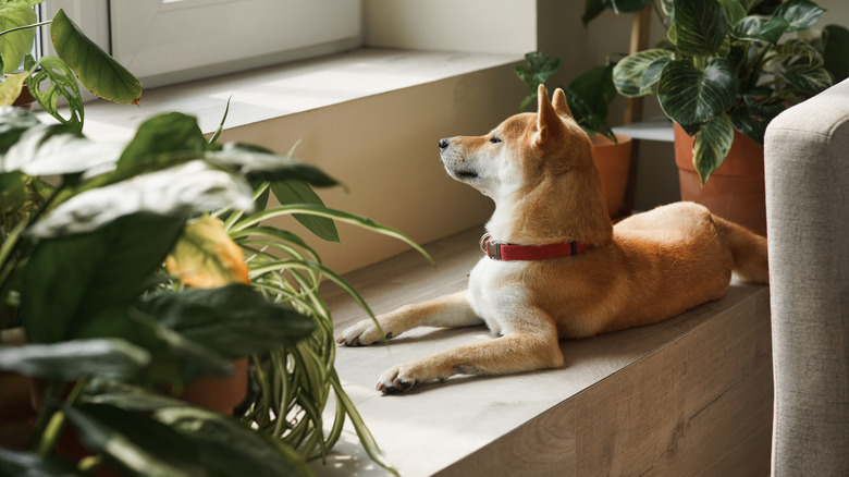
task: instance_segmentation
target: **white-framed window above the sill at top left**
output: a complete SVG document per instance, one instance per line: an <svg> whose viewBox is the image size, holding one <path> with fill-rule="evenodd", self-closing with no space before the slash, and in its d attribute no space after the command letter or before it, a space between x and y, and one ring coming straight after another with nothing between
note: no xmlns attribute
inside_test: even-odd
<svg viewBox="0 0 849 477"><path fill-rule="evenodd" d="M57 0L145 87L361 45L361 0Z"/></svg>

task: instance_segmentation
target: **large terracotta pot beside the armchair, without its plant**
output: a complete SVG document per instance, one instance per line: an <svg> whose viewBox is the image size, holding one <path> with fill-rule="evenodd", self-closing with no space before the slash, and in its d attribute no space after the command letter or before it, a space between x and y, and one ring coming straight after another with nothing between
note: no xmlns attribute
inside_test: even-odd
<svg viewBox="0 0 849 477"><path fill-rule="evenodd" d="M763 146L735 131L728 157L702 186L692 166L694 139L678 124L674 129L681 200L701 204L717 216L766 236Z"/></svg>

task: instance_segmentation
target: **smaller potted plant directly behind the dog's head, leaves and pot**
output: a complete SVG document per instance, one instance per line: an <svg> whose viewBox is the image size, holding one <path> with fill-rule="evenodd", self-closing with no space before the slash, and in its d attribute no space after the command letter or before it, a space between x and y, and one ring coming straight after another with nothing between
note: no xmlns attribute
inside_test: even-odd
<svg viewBox="0 0 849 477"><path fill-rule="evenodd" d="M561 60L534 51L525 56L525 65L516 66L516 75L528 86L529 95L519 105L520 111L537 99L537 87L545 84L561 65ZM631 138L614 134L607 125L607 107L616 96L610 58L604 65L578 75L564 89L573 118L590 136L593 159L602 180L604 199L611 218L622 212L631 158Z"/></svg>

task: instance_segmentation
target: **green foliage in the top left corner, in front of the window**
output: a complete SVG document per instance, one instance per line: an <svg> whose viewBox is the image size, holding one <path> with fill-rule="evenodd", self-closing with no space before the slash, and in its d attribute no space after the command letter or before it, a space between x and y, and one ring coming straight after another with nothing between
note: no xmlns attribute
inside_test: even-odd
<svg viewBox="0 0 849 477"><path fill-rule="evenodd" d="M138 103L142 83L91 41L59 10L52 20L37 23L33 7L45 0L0 0L0 65L9 76L0 84L0 107L14 102L26 84L29 94L59 122L82 131L85 120L79 85L95 95L122 103ZM50 25L57 56L29 56L36 28ZM23 65L23 72L15 73ZM64 98L69 117L60 114L57 101Z"/></svg>

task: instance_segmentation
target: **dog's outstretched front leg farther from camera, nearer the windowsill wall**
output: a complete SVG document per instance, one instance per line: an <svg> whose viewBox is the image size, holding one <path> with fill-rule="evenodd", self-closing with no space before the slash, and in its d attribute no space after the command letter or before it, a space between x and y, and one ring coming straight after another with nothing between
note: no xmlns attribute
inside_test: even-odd
<svg viewBox="0 0 849 477"><path fill-rule="evenodd" d="M481 325L483 320L475 315L467 296L468 292L464 290L420 304L402 306L378 316L380 328L374 320L362 320L343 331L336 342L348 346L369 345L382 342L384 338L395 338L416 327L456 328Z"/></svg>

